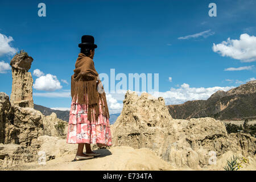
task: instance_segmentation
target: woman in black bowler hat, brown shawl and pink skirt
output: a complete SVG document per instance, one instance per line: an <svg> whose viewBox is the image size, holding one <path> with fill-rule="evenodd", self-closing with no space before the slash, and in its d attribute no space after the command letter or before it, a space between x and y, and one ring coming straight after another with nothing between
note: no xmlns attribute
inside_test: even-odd
<svg viewBox="0 0 256 182"><path fill-rule="evenodd" d="M81 52L76 60L71 77L71 110L69 113L67 143L78 143L75 160L99 156L91 150L90 144L98 147L111 146L109 110L106 95L94 68L94 38L82 36ZM86 152L83 153L84 145Z"/></svg>

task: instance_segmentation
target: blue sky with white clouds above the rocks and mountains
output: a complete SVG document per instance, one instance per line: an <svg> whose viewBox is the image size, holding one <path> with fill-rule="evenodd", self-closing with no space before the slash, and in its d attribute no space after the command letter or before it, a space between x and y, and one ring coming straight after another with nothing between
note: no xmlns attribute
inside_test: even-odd
<svg viewBox="0 0 256 182"><path fill-rule="evenodd" d="M38 16L40 2L46 4L46 17ZM212 2L217 5L216 17L208 15ZM2 0L0 91L11 94L6 63L15 51L24 49L34 59L30 72L44 73L32 75L34 103L70 107L77 45L86 34L93 35L98 45L94 56L98 73L110 74L113 68L116 74L159 73L160 96L167 104L207 99L217 90L255 79L255 7L255 1L242 0ZM53 81L50 90L40 87L47 74ZM121 111L124 93L107 94L110 113Z"/></svg>

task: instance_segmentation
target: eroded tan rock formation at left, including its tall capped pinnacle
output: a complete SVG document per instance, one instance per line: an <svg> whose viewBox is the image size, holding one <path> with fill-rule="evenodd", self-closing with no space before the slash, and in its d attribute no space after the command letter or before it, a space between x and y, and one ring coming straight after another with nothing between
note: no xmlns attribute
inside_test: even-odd
<svg viewBox="0 0 256 182"><path fill-rule="evenodd" d="M34 109L33 79L28 72L32 61L26 52L17 53L10 63L13 73L10 100L6 93L0 92L1 167L35 161L42 148L40 136L48 135L57 140L67 135L67 122L58 119L55 113L45 116Z"/></svg>

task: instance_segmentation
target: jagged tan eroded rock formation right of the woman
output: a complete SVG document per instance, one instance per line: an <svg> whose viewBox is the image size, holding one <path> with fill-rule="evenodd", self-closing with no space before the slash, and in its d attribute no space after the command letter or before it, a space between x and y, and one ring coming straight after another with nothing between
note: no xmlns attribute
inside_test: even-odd
<svg viewBox="0 0 256 182"><path fill-rule="evenodd" d="M111 126L113 146L147 147L177 168L203 169L210 158L232 151L254 158L256 139L227 134L224 123L213 118L172 119L163 98L127 91L123 110Z"/></svg>

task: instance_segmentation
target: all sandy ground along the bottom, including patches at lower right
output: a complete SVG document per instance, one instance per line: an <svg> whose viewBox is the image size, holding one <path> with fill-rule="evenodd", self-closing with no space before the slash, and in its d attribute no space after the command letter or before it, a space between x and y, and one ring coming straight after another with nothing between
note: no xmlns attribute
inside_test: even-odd
<svg viewBox="0 0 256 182"><path fill-rule="evenodd" d="M5 168L2 170L28 170L28 171L176 171L192 170L191 168L175 168L167 163L148 148L134 149L128 146L110 147L109 149L94 150L100 152L101 156L93 159L72 162L75 154L63 155L60 158L49 160L46 165L26 163L23 165ZM217 163L207 168L197 170L221 170L226 166L226 160L233 156L233 152L228 151L217 159ZM256 170L256 161L250 158L250 164L243 165L240 170Z"/></svg>

